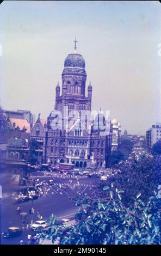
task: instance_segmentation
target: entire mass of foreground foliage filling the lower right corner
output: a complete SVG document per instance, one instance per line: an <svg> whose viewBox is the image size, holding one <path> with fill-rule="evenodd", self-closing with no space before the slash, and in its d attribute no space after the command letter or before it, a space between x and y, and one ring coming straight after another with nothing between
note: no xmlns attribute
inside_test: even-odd
<svg viewBox="0 0 161 256"><path fill-rule="evenodd" d="M60 236L65 245L159 244L161 201L154 190L161 183L160 166L159 155L121 164L113 178L73 198L77 224L66 229L54 223L46 239Z"/></svg>

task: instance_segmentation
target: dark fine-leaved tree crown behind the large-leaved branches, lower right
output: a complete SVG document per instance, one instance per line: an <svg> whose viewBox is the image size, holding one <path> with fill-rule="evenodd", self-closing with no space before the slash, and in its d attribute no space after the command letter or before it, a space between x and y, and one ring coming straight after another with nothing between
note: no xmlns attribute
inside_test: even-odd
<svg viewBox="0 0 161 256"><path fill-rule="evenodd" d="M161 182L161 158L143 156L139 160L133 160L132 163L122 163L116 166L119 172L115 176L111 176L107 181L102 181L101 189L105 185L114 182L119 190L123 190L125 205L131 204L133 196L137 196L141 192L145 201L150 196L154 196L154 190Z"/></svg>

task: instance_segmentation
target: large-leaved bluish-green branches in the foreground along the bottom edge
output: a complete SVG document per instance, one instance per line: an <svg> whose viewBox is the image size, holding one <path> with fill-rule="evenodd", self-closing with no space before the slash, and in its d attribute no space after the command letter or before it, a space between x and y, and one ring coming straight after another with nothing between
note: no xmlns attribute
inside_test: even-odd
<svg viewBox="0 0 161 256"><path fill-rule="evenodd" d="M70 230L56 226L53 227L53 235L49 231L44 238L54 242L55 230L58 230L63 245L160 243L160 213L156 209L155 197L144 203L141 193L138 193L131 206L126 208L122 203L123 191L113 184L104 186L101 192L103 198L95 194L77 199L78 223L72 225Z"/></svg>

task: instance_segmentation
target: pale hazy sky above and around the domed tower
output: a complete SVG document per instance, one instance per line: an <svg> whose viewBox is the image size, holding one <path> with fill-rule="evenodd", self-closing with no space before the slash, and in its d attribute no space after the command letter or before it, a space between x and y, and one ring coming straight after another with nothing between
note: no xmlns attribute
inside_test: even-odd
<svg viewBox="0 0 161 256"><path fill-rule="evenodd" d="M76 36L92 109L110 110L122 132L144 135L161 121L159 16L158 1L4 1L1 105L47 118Z"/></svg>

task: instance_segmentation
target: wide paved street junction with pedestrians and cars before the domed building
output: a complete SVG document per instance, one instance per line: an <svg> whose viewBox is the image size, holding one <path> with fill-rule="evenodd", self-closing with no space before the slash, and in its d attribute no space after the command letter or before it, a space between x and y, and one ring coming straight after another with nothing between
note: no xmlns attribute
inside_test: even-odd
<svg viewBox="0 0 161 256"><path fill-rule="evenodd" d="M35 181L34 187L30 188L30 191L24 193L24 190L21 189L16 192L4 192L1 202L1 232L3 233L9 227L20 227L22 214L28 215L28 225L26 229L22 229L21 235L9 239L1 237L3 244L28 243L28 235L35 235L35 232L30 229L31 225L39 220L46 221L52 214L57 216L59 220L62 218L73 220L76 206L70 198L78 192L85 193L89 189L94 189L100 180L87 176L73 177L72 175L65 176L41 171L30 174L30 179ZM38 198L29 200L26 194L29 194L30 198L32 194L33 196L38 195ZM30 243L34 242L31 241Z"/></svg>

